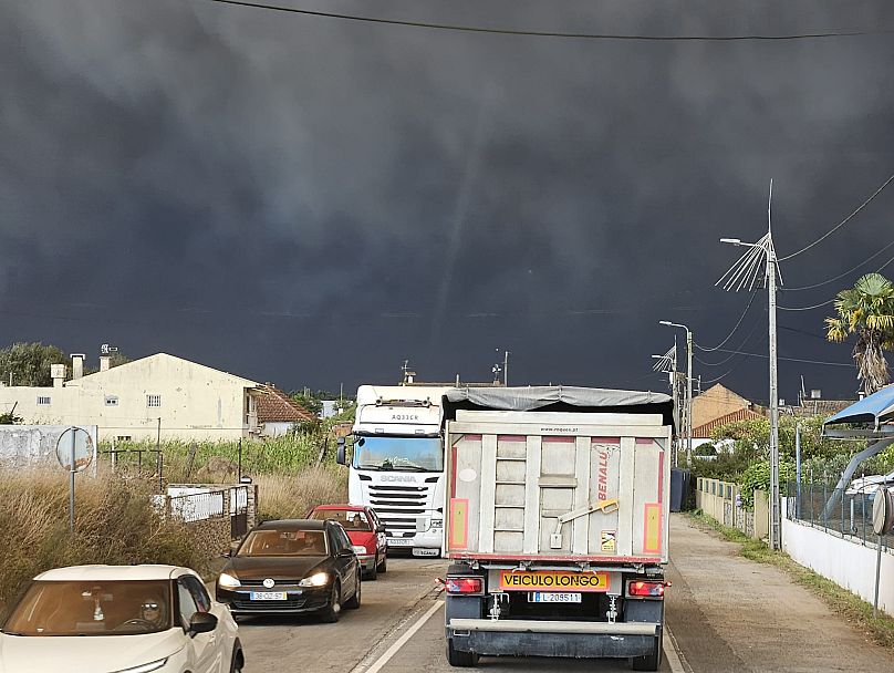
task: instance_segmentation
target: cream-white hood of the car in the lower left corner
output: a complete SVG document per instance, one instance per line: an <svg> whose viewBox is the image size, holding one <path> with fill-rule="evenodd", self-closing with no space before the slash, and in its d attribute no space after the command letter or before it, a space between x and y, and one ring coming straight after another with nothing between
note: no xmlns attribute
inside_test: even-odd
<svg viewBox="0 0 894 673"><path fill-rule="evenodd" d="M106 673L147 664L184 646L184 630L138 635L7 635L0 633L0 673Z"/></svg>

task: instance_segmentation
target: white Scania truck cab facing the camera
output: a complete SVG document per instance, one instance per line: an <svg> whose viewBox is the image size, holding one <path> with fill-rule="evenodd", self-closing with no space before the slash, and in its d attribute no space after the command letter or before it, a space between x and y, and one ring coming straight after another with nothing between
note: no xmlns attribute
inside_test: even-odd
<svg viewBox="0 0 894 673"><path fill-rule="evenodd" d="M444 538L444 394L423 385L357 390L349 500L375 509L388 547L439 556ZM347 463L343 451L339 460Z"/></svg>

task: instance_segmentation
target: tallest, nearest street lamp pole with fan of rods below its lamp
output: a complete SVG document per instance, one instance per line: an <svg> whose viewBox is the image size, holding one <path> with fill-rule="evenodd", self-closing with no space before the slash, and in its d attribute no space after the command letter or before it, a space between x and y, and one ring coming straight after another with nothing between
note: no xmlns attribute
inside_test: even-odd
<svg viewBox="0 0 894 673"><path fill-rule="evenodd" d="M721 244L755 248L752 253L744 255L716 284L725 280L725 289L737 286L753 284L760 257L766 256L765 277L769 294L769 338L770 338L770 549L781 547L781 520L779 510L779 384L776 350L776 275L779 272L773 248L772 221L770 204L773 197L773 182L770 180L770 197L767 203L767 234L755 244L742 242L738 238L721 238ZM749 280L750 279L750 280ZM780 278L781 282L781 278Z"/></svg>

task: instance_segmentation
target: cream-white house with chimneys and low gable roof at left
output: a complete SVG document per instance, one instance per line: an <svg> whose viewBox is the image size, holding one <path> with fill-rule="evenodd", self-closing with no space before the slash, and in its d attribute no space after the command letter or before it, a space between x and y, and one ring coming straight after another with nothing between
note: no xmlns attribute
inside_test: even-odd
<svg viewBox="0 0 894 673"><path fill-rule="evenodd" d="M100 441L238 439L259 434L266 386L167 353L82 375L83 356L53 365L51 387L0 385L0 412L34 425L96 425Z"/></svg>

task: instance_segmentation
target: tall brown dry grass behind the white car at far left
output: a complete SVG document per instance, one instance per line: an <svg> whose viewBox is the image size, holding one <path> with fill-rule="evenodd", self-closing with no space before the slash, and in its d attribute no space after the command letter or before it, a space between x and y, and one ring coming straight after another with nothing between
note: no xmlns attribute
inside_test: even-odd
<svg viewBox="0 0 894 673"><path fill-rule="evenodd" d="M0 469L0 619L44 570L79 563L160 562L202 570L186 528L163 520L149 488L111 475L79 475L75 531L69 532L69 482L55 469Z"/></svg>

